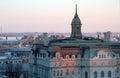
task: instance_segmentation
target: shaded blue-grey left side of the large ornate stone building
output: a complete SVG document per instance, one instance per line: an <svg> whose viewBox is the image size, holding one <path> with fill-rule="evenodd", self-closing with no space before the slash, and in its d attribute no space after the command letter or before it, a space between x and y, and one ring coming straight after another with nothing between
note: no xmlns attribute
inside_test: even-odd
<svg viewBox="0 0 120 78"><path fill-rule="evenodd" d="M48 47L43 44L39 38L33 42L29 59L29 78L50 78Z"/></svg>

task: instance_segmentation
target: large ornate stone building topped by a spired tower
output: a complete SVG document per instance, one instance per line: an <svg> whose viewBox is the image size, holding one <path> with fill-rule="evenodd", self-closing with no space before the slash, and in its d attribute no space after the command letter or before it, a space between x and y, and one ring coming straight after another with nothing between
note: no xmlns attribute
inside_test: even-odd
<svg viewBox="0 0 120 78"><path fill-rule="evenodd" d="M120 78L120 44L82 39L77 6L71 28L70 38L50 41L48 46L35 40L30 78Z"/></svg>

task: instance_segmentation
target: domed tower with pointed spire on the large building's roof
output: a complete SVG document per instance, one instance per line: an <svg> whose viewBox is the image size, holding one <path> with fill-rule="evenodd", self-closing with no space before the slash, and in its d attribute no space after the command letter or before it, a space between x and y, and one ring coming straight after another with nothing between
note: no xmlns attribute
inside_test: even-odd
<svg viewBox="0 0 120 78"><path fill-rule="evenodd" d="M77 5L76 5L76 11L74 18L71 23L71 38L77 38L77 39L82 39L82 33L81 33L81 21L80 18L77 14Z"/></svg>

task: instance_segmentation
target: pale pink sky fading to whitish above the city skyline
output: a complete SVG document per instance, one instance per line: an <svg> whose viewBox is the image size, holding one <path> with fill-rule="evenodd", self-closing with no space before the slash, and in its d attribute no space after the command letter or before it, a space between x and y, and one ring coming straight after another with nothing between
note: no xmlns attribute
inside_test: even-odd
<svg viewBox="0 0 120 78"><path fill-rule="evenodd" d="M76 4L82 32L120 32L120 0L0 0L0 31L71 32Z"/></svg>

